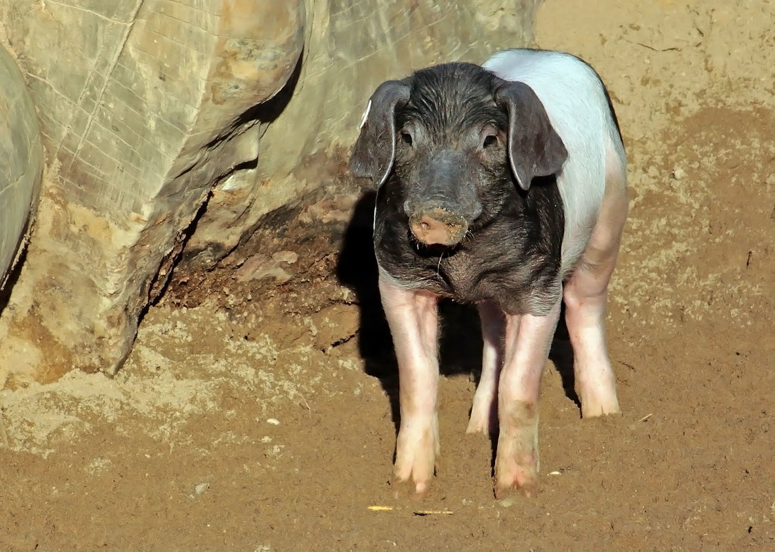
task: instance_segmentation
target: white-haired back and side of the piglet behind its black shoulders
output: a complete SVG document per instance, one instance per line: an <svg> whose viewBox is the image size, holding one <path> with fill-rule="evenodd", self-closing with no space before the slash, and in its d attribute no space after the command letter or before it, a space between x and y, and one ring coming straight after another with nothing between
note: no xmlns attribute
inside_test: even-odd
<svg viewBox="0 0 775 552"><path fill-rule="evenodd" d="M603 201L606 175L622 182L625 150L619 138L603 84L577 57L549 50L505 50L482 66L505 81L532 88L549 121L563 139L568 159L557 174L563 198L565 231L562 271L579 259Z"/></svg>

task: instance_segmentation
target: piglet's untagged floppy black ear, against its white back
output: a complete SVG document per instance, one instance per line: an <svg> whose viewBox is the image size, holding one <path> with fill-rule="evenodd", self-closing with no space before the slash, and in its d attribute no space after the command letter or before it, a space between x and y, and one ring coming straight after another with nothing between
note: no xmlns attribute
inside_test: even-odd
<svg viewBox="0 0 775 552"><path fill-rule="evenodd" d="M533 177L560 170L568 151L532 88L507 82L495 91L495 103L508 112L508 162L519 187L528 190Z"/></svg>

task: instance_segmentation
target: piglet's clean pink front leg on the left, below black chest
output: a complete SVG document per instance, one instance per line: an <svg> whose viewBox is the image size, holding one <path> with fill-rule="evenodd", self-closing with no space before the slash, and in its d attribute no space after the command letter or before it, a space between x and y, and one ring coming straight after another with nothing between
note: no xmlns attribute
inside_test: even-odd
<svg viewBox="0 0 775 552"><path fill-rule="evenodd" d="M428 489L439 454L438 297L396 286L384 276L380 276L379 286L398 359L401 427L394 474L398 481L411 480L415 492L422 494Z"/></svg>

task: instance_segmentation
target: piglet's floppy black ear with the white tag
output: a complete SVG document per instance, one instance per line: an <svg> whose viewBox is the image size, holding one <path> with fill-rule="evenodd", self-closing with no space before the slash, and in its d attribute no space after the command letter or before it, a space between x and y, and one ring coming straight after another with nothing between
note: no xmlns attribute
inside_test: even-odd
<svg viewBox="0 0 775 552"><path fill-rule="evenodd" d="M384 82L374 91L350 156L354 176L371 177L377 188L387 180L395 158L395 111L408 101L409 87L401 81Z"/></svg>

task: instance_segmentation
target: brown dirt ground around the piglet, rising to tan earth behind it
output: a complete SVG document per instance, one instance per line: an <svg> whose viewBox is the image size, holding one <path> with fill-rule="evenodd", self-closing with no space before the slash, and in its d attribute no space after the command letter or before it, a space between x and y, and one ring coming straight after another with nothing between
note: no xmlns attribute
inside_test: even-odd
<svg viewBox="0 0 775 552"><path fill-rule="evenodd" d="M463 432L480 343L449 305L438 477L396 496L395 366L350 197L299 215L356 207L341 255L240 253L171 286L115 379L0 392L0 550L775 550L773 9L539 10L539 46L611 89L632 203L608 314L624 413L580 420L547 364L535 498L496 502L491 443Z"/></svg>

